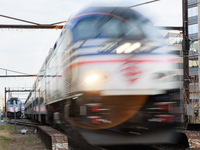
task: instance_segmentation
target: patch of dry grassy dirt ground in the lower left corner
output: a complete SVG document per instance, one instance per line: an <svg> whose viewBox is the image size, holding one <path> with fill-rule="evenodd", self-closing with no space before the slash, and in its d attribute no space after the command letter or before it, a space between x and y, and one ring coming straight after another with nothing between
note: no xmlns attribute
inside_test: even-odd
<svg viewBox="0 0 200 150"><path fill-rule="evenodd" d="M47 150L33 132L23 135L10 126L0 126L0 150Z"/></svg>

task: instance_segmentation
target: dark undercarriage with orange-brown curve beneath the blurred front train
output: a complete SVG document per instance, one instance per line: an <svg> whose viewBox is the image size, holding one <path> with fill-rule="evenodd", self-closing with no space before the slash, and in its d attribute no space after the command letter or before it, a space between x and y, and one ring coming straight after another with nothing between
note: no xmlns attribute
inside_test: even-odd
<svg viewBox="0 0 200 150"><path fill-rule="evenodd" d="M47 105L46 122L63 124L94 145L177 143L180 134L173 129L180 114L174 109L169 93L105 97L85 93Z"/></svg>

